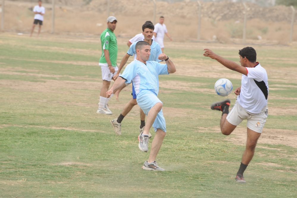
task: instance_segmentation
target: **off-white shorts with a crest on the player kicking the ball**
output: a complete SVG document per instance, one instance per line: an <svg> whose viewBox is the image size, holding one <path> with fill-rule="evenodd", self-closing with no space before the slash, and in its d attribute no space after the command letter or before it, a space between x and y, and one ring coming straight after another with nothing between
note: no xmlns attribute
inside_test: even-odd
<svg viewBox="0 0 297 198"><path fill-rule="evenodd" d="M250 113L246 111L236 100L234 106L227 116L227 121L230 124L237 126L243 120L247 120L246 127L249 129L262 133L263 127L268 117L268 107L264 107L260 113Z"/></svg>

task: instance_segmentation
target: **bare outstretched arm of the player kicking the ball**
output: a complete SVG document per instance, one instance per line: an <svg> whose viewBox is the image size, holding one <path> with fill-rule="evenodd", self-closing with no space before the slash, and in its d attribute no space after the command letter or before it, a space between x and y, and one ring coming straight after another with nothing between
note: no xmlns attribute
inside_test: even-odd
<svg viewBox="0 0 297 198"><path fill-rule="evenodd" d="M223 66L247 76L247 70L245 67L240 66L231 60L227 60L227 59L213 53L213 51L211 51L210 49L203 49L203 50L204 50L204 53L202 54L203 56L210 57L214 60L217 60Z"/></svg>

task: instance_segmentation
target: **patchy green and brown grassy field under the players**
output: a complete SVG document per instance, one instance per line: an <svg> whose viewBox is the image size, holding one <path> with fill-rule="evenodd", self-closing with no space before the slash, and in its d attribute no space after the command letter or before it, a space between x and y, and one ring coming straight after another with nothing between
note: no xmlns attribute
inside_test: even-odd
<svg viewBox="0 0 297 198"><path fill-rule="evenodd" d="M118 39L118 63L128 50ZM96 113L101 88L98 37L39 39L0 35L0 197L291 197L297 194L296 46L253 46L269 79L269 116L252 162L235 182L246 122L219 130L221 77L241 74L202 57L203 48L239 61L246 45L165 43L177 67L160 76L167 135L157 156L165 172L144 171L138 149L139 107L116 136L110 120L131 99L131 87ZM132 58L130 58L132 60ZM232 105L235 95L228 96ZM153 129L150 130L154 136ZM263 137L263 138L262 138ZM151 143L150 143L151 144ZM149 149L150 149L149 144Z"/></svg>

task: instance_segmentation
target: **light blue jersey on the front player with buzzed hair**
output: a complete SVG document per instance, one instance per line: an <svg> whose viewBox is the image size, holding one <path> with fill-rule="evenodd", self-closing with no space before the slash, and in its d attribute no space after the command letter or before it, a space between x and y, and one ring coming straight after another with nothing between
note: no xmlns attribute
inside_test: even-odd
<svg viewBox="0 0 297 198"><path fill-rule="evenodd" d="M150 90L156 95L159 92L159 78L158 75L169 74L167 65L155 61L147 61L146 64L139 60L133 60L120 77L133 81L136 96L142 90Z"/></svg>

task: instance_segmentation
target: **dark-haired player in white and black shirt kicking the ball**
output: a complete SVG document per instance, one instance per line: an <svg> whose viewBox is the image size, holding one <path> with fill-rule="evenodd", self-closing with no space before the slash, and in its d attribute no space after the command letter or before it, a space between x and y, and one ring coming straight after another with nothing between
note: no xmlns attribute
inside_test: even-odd
<svg viewBox="0 0 297 198"><path fill-rule="evenodd" d="M243 172L254 156L258 138L261 135L266 118L268 116L268 77L266 70L256 62L256 51L252 47L239 50L239 62L237 63L218 56L209 49L204 49L204 56L217 60L225 67L242 74L241 86L235 90L237 100L230 110L230 100L213 103L210 108L222 111L220 126L224 135L230 135L243 120L247 120L246 149L242 155L241 164L235 180L246 183Z"/></svg>

